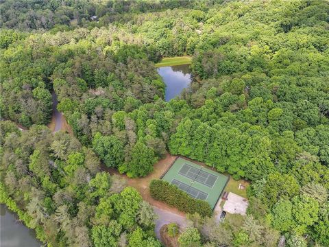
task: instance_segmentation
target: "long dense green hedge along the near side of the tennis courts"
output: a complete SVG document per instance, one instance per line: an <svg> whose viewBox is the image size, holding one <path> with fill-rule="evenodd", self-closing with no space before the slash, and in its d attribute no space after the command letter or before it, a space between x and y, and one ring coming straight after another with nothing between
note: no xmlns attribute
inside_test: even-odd
<svg viewBox="0 0 329 247"><path fill-rule="evenodd" d="M212 209L208 202L188 196L186 192L178 189L175 185L169 184L167 181L152 180L149 190L152 198L166 202L185 213L199 213L202 217L212 215Z"/></svg>

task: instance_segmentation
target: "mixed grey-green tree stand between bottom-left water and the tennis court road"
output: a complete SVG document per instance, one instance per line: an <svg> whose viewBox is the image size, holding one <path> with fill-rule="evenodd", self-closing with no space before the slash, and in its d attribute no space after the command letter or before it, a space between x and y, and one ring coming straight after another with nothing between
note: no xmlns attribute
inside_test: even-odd
<svg viewBox="0 0 329 247"><path fill-rule="evenodd" d="M77 139L45 126L17 132L1 122L0 202L48 246L161 246L153 209L132 187L99 172Z"/></svg>

